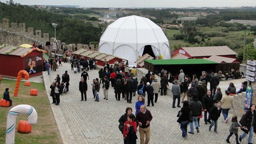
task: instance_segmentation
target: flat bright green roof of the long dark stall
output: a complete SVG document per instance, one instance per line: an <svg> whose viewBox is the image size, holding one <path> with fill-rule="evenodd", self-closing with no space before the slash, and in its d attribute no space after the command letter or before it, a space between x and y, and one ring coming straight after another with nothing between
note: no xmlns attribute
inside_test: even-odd
<svg viewBox="0 0 256 144"><path fill-rule="evenodd" d="M152 59L145 60L153 65L200 65L200 64L217 64L217 62L206 59Z"/></svg>

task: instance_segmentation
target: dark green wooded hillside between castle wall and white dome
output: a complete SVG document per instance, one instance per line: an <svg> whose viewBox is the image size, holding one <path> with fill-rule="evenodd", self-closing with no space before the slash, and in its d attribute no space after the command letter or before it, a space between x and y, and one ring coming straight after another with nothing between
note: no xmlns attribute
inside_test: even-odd
<svg viewBox="0 0 256 144"><path fill-rule="evenodd" d="M85 23L85 20L67 13L51 13L17 3L0 2L0 21L3 18L9 19L10 23L26 23L26 28L33 27L34 33L35 30L41 30L42 34L49 33L50 37L54 37L52 23L57 23L56 37L67 44L99 41L105 27L95 27L92 23Z"/></svg>

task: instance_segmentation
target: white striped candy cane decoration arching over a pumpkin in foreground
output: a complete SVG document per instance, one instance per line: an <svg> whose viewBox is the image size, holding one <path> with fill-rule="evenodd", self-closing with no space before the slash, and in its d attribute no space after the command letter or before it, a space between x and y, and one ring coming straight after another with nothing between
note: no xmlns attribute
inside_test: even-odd
<svg viewBox="0 0 256 144"><path fill-rule="evenodd" d="M13 107L7 115L5 144L14 144L16 117L19 114L28 115L29 124L34 125L37 123L37 112L31 105L17 105Z"/></svg>

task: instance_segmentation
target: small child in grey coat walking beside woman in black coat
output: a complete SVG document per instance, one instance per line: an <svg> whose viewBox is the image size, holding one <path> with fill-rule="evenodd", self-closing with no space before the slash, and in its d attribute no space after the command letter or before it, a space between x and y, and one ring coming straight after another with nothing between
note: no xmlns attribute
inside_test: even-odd
<svg viewBox="0 0 256 144"><path fill-rule="evenodd" d="M236 144L239 144L238 142L238 130L240 130L241 128L243 128L238 122L237 122L237 116L233 115L232 117L232 124L230 126L230 135L227 136L226 138L226 142L230 144L230 137L235 134L236 136Z"/></svg>

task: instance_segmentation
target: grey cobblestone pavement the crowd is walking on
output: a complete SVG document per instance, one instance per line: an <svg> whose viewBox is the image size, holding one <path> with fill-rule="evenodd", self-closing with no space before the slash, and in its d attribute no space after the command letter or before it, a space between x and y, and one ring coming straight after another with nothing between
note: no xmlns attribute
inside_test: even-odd
<svg viewBox="0 0 256 144"><path fill-rule="evenodd" d="M56 74L62 75L65 70L68 70L70 76L69 93L61 95L60 105L51 104L56 123L58 125L62 141L64 144L122 144L122 134L118 129L118 119L125 113L127 107L133 108L135 113L135 102L137 95L132 98L132 104L128 104L126 100L116 101L114 89L110 86L108 91L108 100L103 99L103 90L99 92L99 102L95 102L92 95L92 79L98 78L98 70L90 70L89 80L87 80L88 91L87 101L81 100L79 92L79 81L81 73L74 74L69 63L62 63L56 72L43 72L43 80L46 86L49 103L52 103L52 97L49 96L49 86L56 78ZM228 87L230 82L234 82L236 88L245 79L230 80L220 82L222 92ZM210 86L210 85L209 85ZM209 87L208 86L208 87ZM223 115L218 121L219 134L208 130L209 124L204 124L203 119L200 120L200 133L188 134L186 140L181 137L180 125L177 121L177 112L180 108L172 108L172 96L160 96L154 107L147 107L153 115L151 121L151 140L150 144L183 144L189 142L191 144L226 144L226 137L229 134L231 122L227 124L223 120ZM177 105L176 105L177 106ZM231 120L232 115L228 118ZM190 127L188 126L188 131ZM239 134L242 134L240 131ZM97 137L98 136L98 137ZM137 144L140 143L139 132L137 133ZM247 138L244 138L242 143L247 143ZM253 137L255 141L255 137ZM230 138L231 143L235 143L235 136Z"/></svg>

